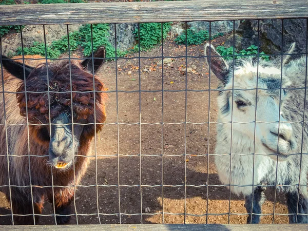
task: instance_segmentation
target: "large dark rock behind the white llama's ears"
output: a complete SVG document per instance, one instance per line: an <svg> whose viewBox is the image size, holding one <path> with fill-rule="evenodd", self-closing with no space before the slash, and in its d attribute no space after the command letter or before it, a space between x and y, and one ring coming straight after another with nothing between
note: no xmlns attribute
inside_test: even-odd
<svg viewBox="0 0 308 231"><path fill-rule="evenodd" d="M260 20L259 45L266 54L280 54L282 47L282 21ZM250 45L258 45L258 21L245 20L235 31L235 47L246 49ZM283 52L287 52L290 45L296 42L295 53L306 50L306 20L303 18L284 20L283 22ZM233 35L230 35L225 47L233 46Z"/></svg>

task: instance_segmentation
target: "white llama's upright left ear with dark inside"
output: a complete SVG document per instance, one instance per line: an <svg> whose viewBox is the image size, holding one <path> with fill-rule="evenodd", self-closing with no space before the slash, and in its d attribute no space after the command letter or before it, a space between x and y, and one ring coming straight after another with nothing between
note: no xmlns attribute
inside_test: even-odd
<svg viewBox="0 0 308 231"><path fill-rule="evenodd" d="M204 47L204 53L206 55L206 60L208 66L210 66L211 71L217 76L217 78L224 84L227 83L228 69L229 66L223 57L215 50L214 46L209 46L208 44Z"/></svg>

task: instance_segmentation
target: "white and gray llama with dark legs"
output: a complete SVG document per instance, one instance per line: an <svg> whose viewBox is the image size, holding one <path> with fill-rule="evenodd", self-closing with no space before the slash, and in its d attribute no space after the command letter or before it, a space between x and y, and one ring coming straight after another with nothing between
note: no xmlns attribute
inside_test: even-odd
<svg viewBox="0 0 308 231"><path fill-rule="evenodd" d="M290 53L294 47L295 44L291 46ZM302 131L305 89L280 90L280 86L282 88L305 87L306 57L290 61L290 55L284 56L281 83L281 60L265 62L260 59L259 67L252 59L228 64L215 48L208 44L205 46L205 54L211 71L221 81L218 87L221 90L218 95L218 122L221 124L217 124L215 149L216 155L219 155L215 156L215 163L220 181L223 184L231 183L232 192L245 197L245 207L250 214L247 223L259 223L258 214L261 214L261 206L265 200L264 185L275 185L275 183L279 191L284 192L286 196L288 211L291 214L290 223L308 223L308 193L304 186L307 185L308 170L306 123L304 132ZM258 93L256 92L257 78ZM247 90L251 88L255 89ZM281 104L280 113L279 104ZM232 157L230 157L232 107L234 123ZM308 102L305 108L307 111ZM305 113L305 121L308 120L307 114ZM301 147L303 155L300 175ZM232 159L231 173L230 158ZM277 181L276 165L278 166ZM230 175L231 181L229 181ZM300 184L303 186L298 190L299 175ZM251 211L253 217L251 217Z"/></svg>

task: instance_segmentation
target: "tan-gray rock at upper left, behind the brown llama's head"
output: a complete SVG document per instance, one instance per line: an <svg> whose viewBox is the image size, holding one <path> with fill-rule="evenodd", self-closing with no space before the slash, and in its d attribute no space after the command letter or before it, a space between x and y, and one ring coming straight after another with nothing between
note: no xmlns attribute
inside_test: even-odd
<svg viewBox="0 0 308 231"><path fill-rule="evenodd" d="M81 25L69 25L69 32L78 30ZM41 25L25 26L23 32L23 45L29 47L33 42L44 42L44 29ZM66 25L46 25L45 26L46 43L50 44L54 40L59 40L67 34ZM20 33L9 33L2 38L2 52L8 54L15 52L22 46Z"/></svg>

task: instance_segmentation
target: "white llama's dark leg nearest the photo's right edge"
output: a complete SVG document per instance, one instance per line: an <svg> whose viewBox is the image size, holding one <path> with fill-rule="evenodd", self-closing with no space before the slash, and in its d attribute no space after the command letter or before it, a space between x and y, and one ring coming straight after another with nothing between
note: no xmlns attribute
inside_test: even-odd
<svg viewBox="0 0 308 231"><path fill-rule="evenodd" d="M298 214L307 214L305 215L297 215L296 220L296 210L297 210L297 192L288 192L286 194L286 202L289 214L289 223L308 223L308 198L302 194L299 194L298 201Z"/></svg>

